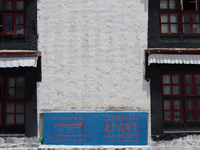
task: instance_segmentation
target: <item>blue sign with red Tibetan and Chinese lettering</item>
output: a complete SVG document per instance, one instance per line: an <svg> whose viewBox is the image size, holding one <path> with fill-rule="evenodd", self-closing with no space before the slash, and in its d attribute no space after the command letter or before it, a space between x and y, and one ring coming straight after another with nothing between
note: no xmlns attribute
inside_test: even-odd
<svg viewBox="0 0 200 150"><path fill-rule="evenodd" d="M147 112L44 113L47 145L147 145Z"/></svg>

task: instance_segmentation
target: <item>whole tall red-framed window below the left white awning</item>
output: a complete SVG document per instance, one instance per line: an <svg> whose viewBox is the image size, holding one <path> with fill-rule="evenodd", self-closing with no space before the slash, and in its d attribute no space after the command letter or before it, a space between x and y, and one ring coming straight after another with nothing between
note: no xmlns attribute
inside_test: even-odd
<svg viewBox="0 0 200 150"><path fill-rule="evenodd" d="M25 77L1 76L0 88L0 133L24 133Z"/></svg>

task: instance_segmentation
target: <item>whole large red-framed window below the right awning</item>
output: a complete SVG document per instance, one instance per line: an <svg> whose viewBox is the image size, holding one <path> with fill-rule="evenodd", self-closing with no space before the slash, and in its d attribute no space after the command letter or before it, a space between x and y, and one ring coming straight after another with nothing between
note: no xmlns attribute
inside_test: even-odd
<svg viewBox="0 0 200 150"><path fill-rule="evenodd" d="M162 74L162 90L164 123L200 122L200 74Z"/></svg>

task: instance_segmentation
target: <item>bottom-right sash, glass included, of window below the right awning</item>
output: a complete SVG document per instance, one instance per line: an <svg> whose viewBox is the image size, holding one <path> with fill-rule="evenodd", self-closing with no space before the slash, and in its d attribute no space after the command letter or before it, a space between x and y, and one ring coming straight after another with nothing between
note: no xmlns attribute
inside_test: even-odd
<svg viewBox="0 0 200 150"><path fill-rule="evenodd" d="M186 100L187 122L200 122L200 99Z"/></svg>

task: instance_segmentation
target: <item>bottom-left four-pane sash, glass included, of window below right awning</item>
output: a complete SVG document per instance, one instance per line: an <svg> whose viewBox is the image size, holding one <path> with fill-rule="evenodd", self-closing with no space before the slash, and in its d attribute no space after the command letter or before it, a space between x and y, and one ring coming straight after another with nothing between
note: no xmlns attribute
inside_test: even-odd
<svg viewBox="0 0 200 150"><path fill-rule="evenodd" d="M165 122L183 121L183 107L181 99L164 99L163 104Z"/></svg>

